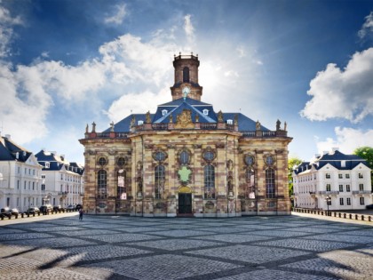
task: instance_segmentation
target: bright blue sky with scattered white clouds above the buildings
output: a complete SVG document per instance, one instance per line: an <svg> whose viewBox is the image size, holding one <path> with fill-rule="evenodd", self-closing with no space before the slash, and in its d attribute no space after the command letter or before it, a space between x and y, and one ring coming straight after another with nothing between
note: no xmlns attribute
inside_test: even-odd
<svg viewBox="0 0 373 280"><path fill-rule="evenodd" d="M86 124L171 101L179 52L216 112L286 122L290 157L373 147L371 0L0 0L0 132L83 164Z"/></svg>

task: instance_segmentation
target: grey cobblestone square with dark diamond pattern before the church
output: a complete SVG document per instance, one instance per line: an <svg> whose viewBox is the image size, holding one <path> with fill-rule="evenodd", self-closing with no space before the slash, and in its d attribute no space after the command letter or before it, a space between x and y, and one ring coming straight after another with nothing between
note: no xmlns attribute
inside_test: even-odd
<svg viewBox="0 0 373 280"><path fill-rule="evenodd" d="M0 279L373 279L373 224L302 216L0 220Z"/></svg>

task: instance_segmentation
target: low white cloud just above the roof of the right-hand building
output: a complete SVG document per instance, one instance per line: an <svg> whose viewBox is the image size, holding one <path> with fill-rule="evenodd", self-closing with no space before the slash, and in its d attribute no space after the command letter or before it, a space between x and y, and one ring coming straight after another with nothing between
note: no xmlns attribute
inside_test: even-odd
<svg viewBox="0 0 373 280"><path fill-rule="evenodd" d="M373 129L364 132L349 127L336 127L334 132L336 133L336 139L319 140L317 137L315 138L320 154L322 154L322 151L329 151L334 147L339 148L345 154L352 154L355 148L373 147Z"/></svg>

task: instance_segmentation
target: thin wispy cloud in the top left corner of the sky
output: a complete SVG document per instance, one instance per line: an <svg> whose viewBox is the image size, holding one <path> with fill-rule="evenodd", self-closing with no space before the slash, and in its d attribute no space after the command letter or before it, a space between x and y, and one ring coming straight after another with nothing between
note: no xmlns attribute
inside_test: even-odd
<svg viewBox="0 0 373 280"><path fill-rule="evenodd" d="M23 24L23 22L19 16L12 18L9 10L0 6L0 58L10 54L8 44L11 42L13 36L12 26L20 24Z"/></svg>

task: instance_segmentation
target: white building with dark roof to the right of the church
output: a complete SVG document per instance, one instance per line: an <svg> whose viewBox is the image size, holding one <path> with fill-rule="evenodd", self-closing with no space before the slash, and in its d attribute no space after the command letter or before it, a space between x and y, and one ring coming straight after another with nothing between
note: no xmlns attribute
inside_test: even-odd
<svg viewBox="0 0 373 280"><path fill-rule="evenodd" d="M370 171L364 159L337 148L316 155L313 162L293 169L294 205L333 211L365 209L373 203Z"/></svg>

